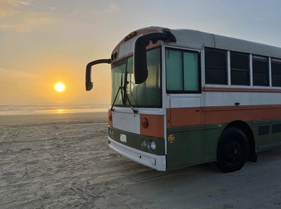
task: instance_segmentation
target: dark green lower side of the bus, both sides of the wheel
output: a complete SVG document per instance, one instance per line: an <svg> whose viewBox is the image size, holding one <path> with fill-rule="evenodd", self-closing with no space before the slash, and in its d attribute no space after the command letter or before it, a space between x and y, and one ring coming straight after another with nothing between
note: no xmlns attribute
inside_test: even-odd
<svg viewBox="0 0 281 209"><path fill-rule="evenodd" d="M253 133L253 150L281 147L281 119L240 121L241 129ZM167 141L167 169L191 166L216 160L217 142L229 123L167 128L167 137L174 135L173 143ZM259 128L266 130L259 134ZM280 127L279 127L280 126ZM234 126L235 127L235 126Z"/></svg>

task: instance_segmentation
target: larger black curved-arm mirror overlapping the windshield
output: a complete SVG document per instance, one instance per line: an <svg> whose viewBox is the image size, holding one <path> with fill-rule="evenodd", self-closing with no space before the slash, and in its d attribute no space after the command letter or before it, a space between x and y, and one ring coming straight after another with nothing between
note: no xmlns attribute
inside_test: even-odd
<svg viewBox="0 0 281 209"><path fill-rule="evenodd" d="M165 30L165 31L164 31ZM146 62L146 43L150 40L176 42L175 36L169 29L163 29L164 33L149 33L137 38L134 47L134 78L135 84L145 82L148 77Z"/></svg>

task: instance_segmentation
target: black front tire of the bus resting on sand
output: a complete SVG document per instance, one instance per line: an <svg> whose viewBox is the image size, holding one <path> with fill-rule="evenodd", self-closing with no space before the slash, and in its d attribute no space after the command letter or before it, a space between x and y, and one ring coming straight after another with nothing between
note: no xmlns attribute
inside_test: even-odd
<svg viewBox="0 0 281 209"><path fill-rule="evenodd" d="M225 129L217 144L217 168L223 173L239 171L249 156L249 142L241 129Z"/></svg>

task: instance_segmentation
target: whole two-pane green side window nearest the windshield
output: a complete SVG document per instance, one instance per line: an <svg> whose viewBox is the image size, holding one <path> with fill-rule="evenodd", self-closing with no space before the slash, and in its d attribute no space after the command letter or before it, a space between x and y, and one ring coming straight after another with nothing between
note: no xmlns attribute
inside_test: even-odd
<svg viewBox="0 0 281 209"><path fill-rule="evenodd" d="M199 53L166 49L167 91L200 91Z"/></svg>

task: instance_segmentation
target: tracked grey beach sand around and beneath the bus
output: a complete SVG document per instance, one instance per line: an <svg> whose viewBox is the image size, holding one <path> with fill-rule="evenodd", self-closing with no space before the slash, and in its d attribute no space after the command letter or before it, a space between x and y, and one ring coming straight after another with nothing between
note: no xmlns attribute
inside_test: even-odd
<svg viewBox="0 0 281 209"><path fill-rule="evenodd" d="M0 116L0 208L281 208L281 149L234 173L160 172L105 136L107 113Z"/></svg>

